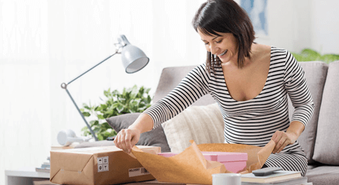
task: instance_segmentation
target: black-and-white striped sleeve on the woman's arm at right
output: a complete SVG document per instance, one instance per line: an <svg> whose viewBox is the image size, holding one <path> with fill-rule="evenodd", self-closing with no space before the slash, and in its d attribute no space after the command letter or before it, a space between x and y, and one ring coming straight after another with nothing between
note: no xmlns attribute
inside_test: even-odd
<svg viewBox="0 0 339 185"><path fill-rule="evenodd" d="M307 86L304 70L288 51L286 53L284 85L295 108L291 122L299 121L306 127L314 113L314 102Z"/></svg>

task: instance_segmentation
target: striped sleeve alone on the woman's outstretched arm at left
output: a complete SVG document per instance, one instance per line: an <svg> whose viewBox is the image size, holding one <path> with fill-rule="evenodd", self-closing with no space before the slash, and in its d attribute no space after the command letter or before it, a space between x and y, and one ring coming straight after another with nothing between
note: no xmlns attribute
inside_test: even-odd
<svg viewBox="0 0 339 185"><path fill-rule="evenodd" d="M151 116L154 126L174 118L184 109L192 105L196 100L209 93L209 74L205 70L205 64L192 69L181 83L174 88L165 98L146 109L143 113Z"/></svg>

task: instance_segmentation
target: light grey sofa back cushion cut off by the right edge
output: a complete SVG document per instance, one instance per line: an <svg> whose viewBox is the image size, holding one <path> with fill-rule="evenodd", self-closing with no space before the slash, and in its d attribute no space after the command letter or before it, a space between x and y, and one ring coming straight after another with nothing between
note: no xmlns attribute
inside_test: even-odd
<svg viewBox="0 0 339 185"><path fill-rule="evenodd" d="M339 165L339 61L329 64L322 93L313 159L322 164Z"/></svg>

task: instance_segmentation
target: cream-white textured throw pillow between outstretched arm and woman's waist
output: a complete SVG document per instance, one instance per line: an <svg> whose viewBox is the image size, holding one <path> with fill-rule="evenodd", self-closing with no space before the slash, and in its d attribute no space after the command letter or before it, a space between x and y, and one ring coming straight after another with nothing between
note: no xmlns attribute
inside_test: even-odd
<svg viewBox="0 0 339 185"><path fill-rule="evenodd" d="M181 153L196 144L223 143L224 122L217 103L191 106L162 124L171 152Z"/></svg>

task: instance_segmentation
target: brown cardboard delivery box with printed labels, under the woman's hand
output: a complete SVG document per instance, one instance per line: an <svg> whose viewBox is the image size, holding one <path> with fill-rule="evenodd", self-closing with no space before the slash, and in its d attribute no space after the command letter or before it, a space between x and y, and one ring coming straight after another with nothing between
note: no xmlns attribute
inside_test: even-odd
<svg viewBox="0 0 339 185"><path fill-rule="evenodd" d="M138 146L157 154L160 147ZM55 184L122 184L155 179L131 155L116 146L50 151L50 181Z"/></svg>

